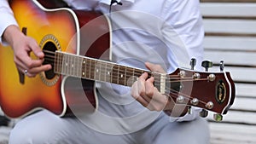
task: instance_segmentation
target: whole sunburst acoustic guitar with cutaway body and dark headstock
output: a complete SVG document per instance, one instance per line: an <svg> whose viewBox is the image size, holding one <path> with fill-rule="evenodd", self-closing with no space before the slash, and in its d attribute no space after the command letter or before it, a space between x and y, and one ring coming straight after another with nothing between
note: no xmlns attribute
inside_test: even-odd
<svg viewBox="0 0 256 144"><path fill-rule="evenodd" d="M9 118L22 118L40 109L60 117L72 115L73 107L95 112L96 81L131 86L145 72L109 60L108 16L68 8L45 9L35 0L13 0L10 6L20 31L36 39L44 51L44 64L53 69L26 78L15 67L12 49L0 48L0 105ZM87 28L82 29L84 26ZM204 62L204 66L209 64ZM160 93L189 107L222 115L235 99L230 72L177 68L170 74L148 72L149 77L154 77L154 86Z"/></svg>

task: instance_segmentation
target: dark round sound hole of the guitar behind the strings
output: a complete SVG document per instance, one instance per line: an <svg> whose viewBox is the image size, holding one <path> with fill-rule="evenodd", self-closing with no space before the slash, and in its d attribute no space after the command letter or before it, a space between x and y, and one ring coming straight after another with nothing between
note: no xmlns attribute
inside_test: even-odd
<svg viewBox="0 0 256 144"><path fill-rule="evenodd" d="M43 51L44 51L44 63L43 65L50 64L52 69L49 71L45 71L45 78L52 79L55 78L54 72L54 64L55 64L55 51L57 50L55 43L47 42L44 44Z"/></svg>

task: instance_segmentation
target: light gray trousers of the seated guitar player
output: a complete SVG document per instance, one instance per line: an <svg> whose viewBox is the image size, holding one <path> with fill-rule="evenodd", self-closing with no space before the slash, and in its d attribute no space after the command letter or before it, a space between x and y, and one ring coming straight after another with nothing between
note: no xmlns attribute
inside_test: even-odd
<svg viewBox="0 0 256 144"><path fill-rule="evenodd" d="M137 101L127 105L114 104L103 98L100 93L97 95L99 95L98 112L104 113L103 115L107 117L101 115L99 118L83 121L79 117L60 118L52 112L43 110L15 124L9 136L9 144L209 143L208 124L203 118L196 118L189 122L172 122L164 112L159 112L160 114L156 117L151 112L144 115L142 111L146 108ZM136 112L137 109L140 109L139 112ZM131 114L131 112L139 113L139 115ZM145 113L148 113L147 109ZM132 117L134 115L137 117ZM141 115L143 116L140 117ZM116 118L128 118L128 121L127 119L125 123L122 120L115 121Z"/></svg>

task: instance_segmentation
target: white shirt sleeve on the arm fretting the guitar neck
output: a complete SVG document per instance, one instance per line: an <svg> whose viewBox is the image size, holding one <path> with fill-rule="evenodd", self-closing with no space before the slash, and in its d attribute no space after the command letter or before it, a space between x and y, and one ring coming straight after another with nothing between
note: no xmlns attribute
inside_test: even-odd
<svg viewBox="0 0 256 144"><path fill-rule="evenodd" d="M198 0L166 1L162 17L166 21L162 26L163 37L172 49L179 67L189 68L191 58L196 59L196 70L202 70L204 49L202 46L204 29ZM176 121L190 121L199 116L201 108L192 107L191 113Z"/></svg>

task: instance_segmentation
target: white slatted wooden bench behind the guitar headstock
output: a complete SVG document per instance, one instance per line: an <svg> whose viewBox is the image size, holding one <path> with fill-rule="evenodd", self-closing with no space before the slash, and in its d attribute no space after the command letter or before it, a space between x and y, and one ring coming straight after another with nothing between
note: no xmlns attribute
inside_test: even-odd
<svg viewBox="0 0 256 144"><path fill-rule="evenodd" d="M208 118L211 144L256 143L256 0L201 0L206 59L224 60L236 99L220 123Z"/></svg>

